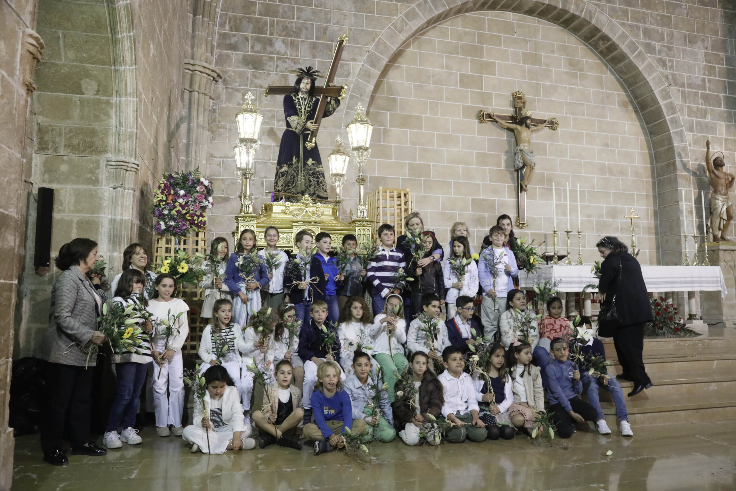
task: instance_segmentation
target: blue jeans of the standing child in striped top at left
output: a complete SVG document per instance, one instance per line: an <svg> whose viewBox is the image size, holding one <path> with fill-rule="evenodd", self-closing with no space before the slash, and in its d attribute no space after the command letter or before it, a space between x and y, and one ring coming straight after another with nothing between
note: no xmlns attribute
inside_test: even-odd
<svg viewBox="0 0 736 491"><path fill-rule="evenodd" d="M147 363L125 361L115 364L118 376L118 393L110 407L105 431L117 431L121 421L123 429L135 425L135 414L138 413L138 402L141 400L141 389L146 381Z"/></svg>

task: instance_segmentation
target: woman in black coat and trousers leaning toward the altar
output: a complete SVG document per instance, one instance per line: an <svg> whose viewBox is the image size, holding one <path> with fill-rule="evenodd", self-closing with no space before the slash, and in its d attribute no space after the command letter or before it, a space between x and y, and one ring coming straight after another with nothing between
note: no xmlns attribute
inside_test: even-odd
<svg viewBox="0 0 736 491"><path fill-rule="evenodd" d="M629 392L631 397L652 385L642 359L644 325L653 319L649 294L639 261L629 254L626 244L606 236L595 245L604 258L598 292L606 305L616 299L619 324L613 343L623 371L617 378L634 382L634 390Z"/></svg>

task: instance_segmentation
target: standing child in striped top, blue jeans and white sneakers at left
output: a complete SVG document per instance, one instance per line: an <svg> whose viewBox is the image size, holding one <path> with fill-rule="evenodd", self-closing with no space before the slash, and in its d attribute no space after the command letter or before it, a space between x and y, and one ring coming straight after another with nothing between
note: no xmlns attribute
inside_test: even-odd
<svg viewBox="0 0 736 491"><path fill-rule="evenodd" d="M146 285L146 276L138 269L126 269L118 280L113 303L123 308L145 309L148 305L143 289ZM145 333L152 333L151 322L135 322L128 328L141 329ZM141 389L146 381L146 372L152 360L151 342L148 336L141 336L138 353L126 350L114 352L111 361L115 363L115 372L118 379L117 393L110 415L107 417L107 428L102 444L107 448L121 448L126 442L129 445L138 445L143 440L138 437L135 425L135 415L138 413L138 401L141 399ZM118 426L122 424L122 434L118 434Z"/></svg>

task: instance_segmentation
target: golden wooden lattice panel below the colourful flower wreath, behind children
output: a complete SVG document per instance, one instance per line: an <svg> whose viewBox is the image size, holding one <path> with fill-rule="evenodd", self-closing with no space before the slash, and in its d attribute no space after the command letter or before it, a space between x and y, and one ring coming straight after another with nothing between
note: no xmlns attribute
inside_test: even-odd
<svg viewBox="0 0 736 491"><path fill-rule="evenodd" d="M193 256L195 253L206 255L208 251L207 234L205 232L193 232L190 236L185 236L177 240L169 236L156 236L156 244L154 249L155 267L163 263L163 260L174 255L174 251L183 250L188 255ZM207 326L207 322L202 322L199 312L202 311L202 303L205 301L205 290L199 289L197 285L184 284L177 289L178 296L189 305L189 336L182 347L183 353L197 353L199 349L199 341L202 339L202 331Z"/></svg>

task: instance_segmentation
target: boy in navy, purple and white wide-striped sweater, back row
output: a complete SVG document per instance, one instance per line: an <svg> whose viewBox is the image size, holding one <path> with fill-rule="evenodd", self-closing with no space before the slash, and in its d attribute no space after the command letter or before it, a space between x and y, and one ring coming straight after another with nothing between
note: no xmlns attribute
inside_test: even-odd
<svg viewBox="0 0 736 491"><path fill-rule="evenodd" d="M386 297L389 294L401 294L401 290L395 288L396 273L399 268L406 268L406 258L404 253L394 247L394 235L396 231L393 225L384 223L378 227L378 239L381 240L381 247L368 264L366 276L373 286L373 314L378 315L383 312L383 306L386 305Z"/></svg>

